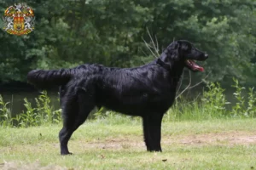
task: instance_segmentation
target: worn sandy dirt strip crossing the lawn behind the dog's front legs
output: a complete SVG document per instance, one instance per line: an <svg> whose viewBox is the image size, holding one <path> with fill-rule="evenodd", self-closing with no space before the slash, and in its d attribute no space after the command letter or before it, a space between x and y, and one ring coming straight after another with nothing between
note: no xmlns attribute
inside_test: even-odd
<svg viewBox="0 0 256 170"><path fill-rule="evenodd" d="M189 135L175 135L175 136L162 136L162 144L189 144L189 145L206 145L206 144L256 144L256 133L246 132L229 132L229 133L207 133L207 134L189 134ZM80 141L80 147L85 150L107 149L107 150L123 150L130 148L143 148L143 137L129 137L121 139L97 139L95 141Z"/></svg>

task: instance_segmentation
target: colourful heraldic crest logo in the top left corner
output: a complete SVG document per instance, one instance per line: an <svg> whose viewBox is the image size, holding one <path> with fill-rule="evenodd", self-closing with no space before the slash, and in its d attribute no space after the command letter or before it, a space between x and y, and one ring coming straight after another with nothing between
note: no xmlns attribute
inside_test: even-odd
<svg viewBox="0 0 256 170"><path fill-rule="evenodd" d="M9 34L18 36L29 34L34 30L34 11L26 4L15 3L4 11L3 21L3 30Z"/></svg>

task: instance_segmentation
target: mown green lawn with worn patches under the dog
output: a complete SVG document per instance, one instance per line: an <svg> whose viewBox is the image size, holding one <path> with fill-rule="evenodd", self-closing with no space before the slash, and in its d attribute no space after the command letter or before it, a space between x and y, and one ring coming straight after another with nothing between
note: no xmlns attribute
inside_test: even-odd
<svg viewBox="0 0 256 170"><path fill-rule="evenodd" d="M0 127L0 169L255 169L256 120L164 122L149 153L141 122L86 122L59 154L61 125Z"/></svg>

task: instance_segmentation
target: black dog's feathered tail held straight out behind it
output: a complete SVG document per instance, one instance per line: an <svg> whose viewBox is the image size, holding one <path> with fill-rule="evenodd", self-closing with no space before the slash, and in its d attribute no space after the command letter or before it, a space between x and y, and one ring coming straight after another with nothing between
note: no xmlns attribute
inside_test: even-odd
<svg viewBox="0 0 256 170"><path fill-rule="evenodd" d="M71 69L61 70L33 70L28 72L27 81L36 88L46 89L54 86L61 86L67 84L72 78Z"/></svg>

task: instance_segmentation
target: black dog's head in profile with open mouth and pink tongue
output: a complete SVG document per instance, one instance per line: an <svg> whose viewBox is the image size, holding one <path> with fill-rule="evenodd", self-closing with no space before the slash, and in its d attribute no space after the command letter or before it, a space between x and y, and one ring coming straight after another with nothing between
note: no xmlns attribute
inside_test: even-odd
<svg viewBox="0 0 256 170"><path fill-rule="evenodd" d="M195 60L204 61L208 58L208 54L201 52L195 48L192 43L179 40L172 42L168 48L168 53L172 52L172 59L181 61L184 66L191 71L204 71L204 68L195 63Z"/></svg>

